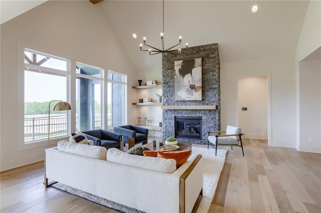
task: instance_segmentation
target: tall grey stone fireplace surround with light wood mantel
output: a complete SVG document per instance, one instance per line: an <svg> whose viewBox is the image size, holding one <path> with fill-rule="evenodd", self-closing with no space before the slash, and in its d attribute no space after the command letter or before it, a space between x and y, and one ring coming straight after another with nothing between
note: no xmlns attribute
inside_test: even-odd
<svg viewBox="0 0 321 213"><path fill-rule="evenodd" d="M175 100L174 61L181 59L202 58L202 100ZM207 143L208 131L220 129L220 58L218 44L182 49L182 54L163 56L163 138L177 137L189 143ZM181 117L189 121L179 122ZM198 117L198 121L191 120ZM182 132L177 132L177 127ZM196 129L195 129L196 128ZM192 130L193 129L193 130ZM195 133L198 131L198 134ZM193 134L187 136L187 134Z"/></svg>

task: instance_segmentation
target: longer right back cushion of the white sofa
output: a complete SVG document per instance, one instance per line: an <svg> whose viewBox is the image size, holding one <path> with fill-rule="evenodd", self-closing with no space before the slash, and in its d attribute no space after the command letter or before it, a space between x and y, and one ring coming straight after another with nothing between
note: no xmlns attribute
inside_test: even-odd
<svg viewBox="0 0 321 213"><path fill-rule="evenodd" d="M173 173L176 171L176 161L174 159L128 154L117 148L109 148L107 150L107 160L166 173Z"/></svg>

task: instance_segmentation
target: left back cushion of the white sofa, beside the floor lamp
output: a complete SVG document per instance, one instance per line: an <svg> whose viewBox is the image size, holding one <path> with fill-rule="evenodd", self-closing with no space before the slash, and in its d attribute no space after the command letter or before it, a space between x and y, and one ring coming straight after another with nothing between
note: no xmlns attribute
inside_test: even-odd
<svg viewBox="0 0 321 213"><path fill-rule="evenodd" d="M102 160L106 160L107 153L107 149L103 146L75 143L67 140L58 142L58 150Z"/></svg>

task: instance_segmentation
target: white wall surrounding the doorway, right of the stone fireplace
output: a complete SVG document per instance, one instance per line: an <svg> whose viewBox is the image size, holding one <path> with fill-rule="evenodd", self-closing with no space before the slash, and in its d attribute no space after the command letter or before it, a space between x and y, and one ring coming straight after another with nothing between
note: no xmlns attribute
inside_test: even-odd
<svg viewBox="0 0 321 213"><path fill-rule="evenodd" d="M221 63L221 126L237 123L237 79L271 76L271 130L268 144L295 147L294 57L266 58Z"/></svg>

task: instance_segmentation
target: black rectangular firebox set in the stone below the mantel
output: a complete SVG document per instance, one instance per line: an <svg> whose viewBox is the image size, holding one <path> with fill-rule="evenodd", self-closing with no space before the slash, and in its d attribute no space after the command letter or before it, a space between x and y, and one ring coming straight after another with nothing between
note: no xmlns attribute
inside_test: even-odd
<svg viewBox="0 0 321 213"><path fill-rule="evenodd" d="M202 140L202 117L175 116L175 137Z"/></svg>

